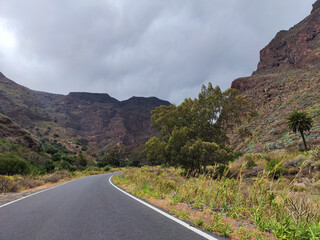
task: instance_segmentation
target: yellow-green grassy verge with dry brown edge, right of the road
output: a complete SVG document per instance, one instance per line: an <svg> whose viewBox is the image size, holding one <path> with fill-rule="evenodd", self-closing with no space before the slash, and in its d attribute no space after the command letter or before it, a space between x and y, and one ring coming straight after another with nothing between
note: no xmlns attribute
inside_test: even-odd
<svg viewBox="0 0 320 240"><path fill-rule="evenodd" d="M315 156L316 151L244 155L218 179L143 167L127 169L114 181L195 226L232 239L319 239Z"/></svg>

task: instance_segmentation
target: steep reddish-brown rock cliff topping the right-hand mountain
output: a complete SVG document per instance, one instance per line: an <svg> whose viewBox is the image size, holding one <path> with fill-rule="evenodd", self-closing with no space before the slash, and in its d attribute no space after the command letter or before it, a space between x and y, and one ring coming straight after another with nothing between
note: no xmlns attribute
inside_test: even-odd
<svg viewBox="0 0 320 240"><path fill-rule="evenodd" d="M257 71L270 68L316 67L320 64L320 1L310 16L289 31L280 31L260 52Z"/></svg>

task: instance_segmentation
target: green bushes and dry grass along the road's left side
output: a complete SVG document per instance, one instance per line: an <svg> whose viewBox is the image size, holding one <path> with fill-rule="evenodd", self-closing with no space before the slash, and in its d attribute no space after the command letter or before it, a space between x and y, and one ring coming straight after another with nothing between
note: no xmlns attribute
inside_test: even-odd
<svg viewBox="0 0 320 240"><path fill-rule="evenodd" d="M0 194L50 187L75 178L115 171L99 166L84 153L69 151L58 142L42 139L42 152L0 140Z"/></svg>

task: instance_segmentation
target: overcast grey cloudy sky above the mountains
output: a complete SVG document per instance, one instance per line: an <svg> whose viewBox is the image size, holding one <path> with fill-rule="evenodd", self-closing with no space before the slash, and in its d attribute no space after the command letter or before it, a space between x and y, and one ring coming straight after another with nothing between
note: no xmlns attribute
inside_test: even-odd
<svg viewBox="0 0 320 240"><path fill-rule="evenodd" d="M315 0L0 0L0 71L31 89L156 96L251 75Z"/></svg>

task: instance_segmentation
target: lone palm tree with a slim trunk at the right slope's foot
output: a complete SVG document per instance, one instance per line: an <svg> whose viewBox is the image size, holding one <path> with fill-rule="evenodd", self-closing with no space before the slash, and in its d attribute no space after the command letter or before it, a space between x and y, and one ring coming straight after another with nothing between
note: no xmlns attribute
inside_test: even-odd
<svg viewBox="0 0 320 240"><path fill-rule="evenodd" d="M305 150L307 150L306 139L304 138L304 131L310 131L312 127L312 118L307 113L301 111L293 111L287 118L287 124L290 130L293 132L299 131L303 139Z"/></svg>

